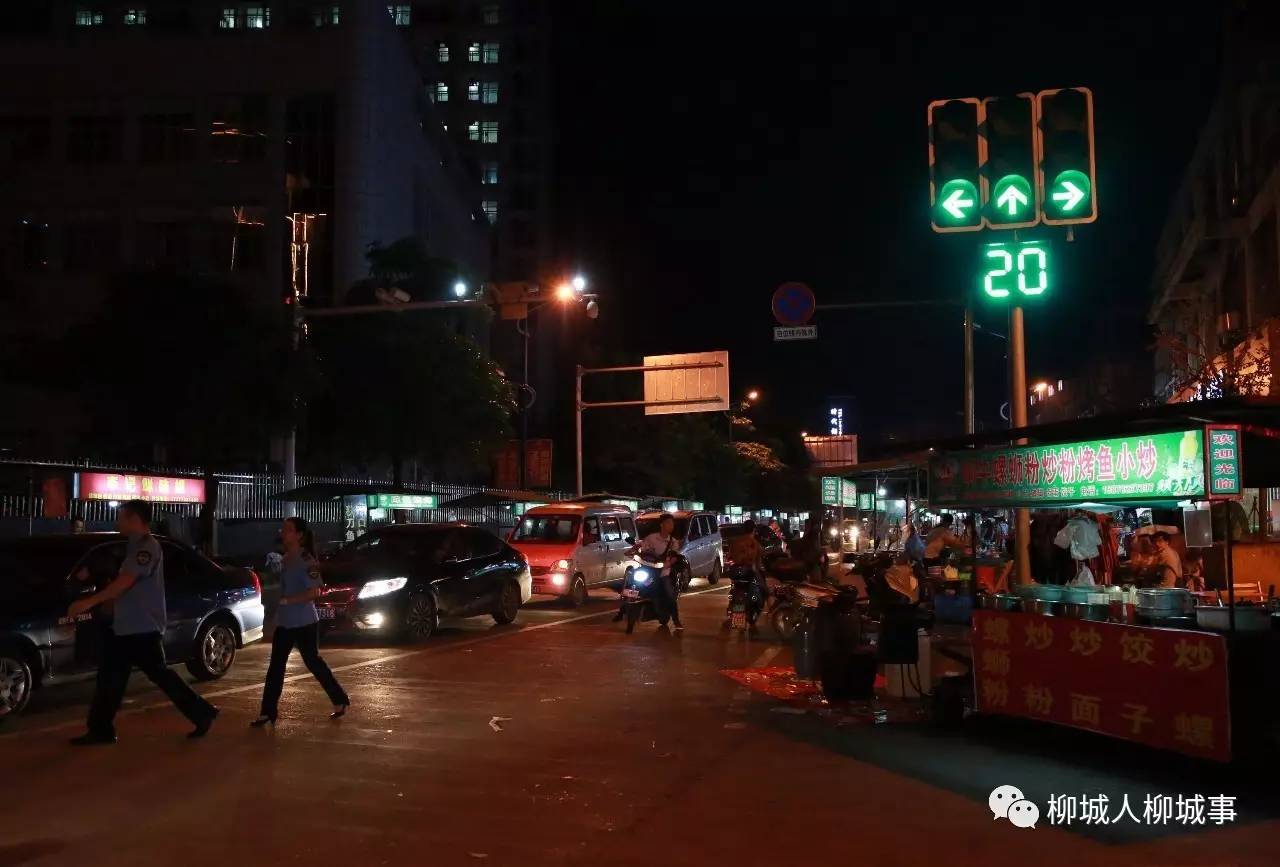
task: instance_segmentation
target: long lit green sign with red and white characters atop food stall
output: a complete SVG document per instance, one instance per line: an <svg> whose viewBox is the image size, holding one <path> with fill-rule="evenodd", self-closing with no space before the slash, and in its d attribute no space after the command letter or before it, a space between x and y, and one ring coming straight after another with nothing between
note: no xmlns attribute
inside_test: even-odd
<svg viewBox="0 0 1280 867"><path fill-rule="evenodd" d="M929 462L929 480L934 506L1196 499L1206 494L1204 430L947 452Z"/></svg>

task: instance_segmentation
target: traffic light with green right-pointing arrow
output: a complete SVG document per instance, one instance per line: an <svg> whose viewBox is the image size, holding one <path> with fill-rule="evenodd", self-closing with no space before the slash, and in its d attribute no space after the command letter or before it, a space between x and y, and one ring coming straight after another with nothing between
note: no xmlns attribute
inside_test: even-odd
<svg viewBox="0 0 1280 867"><path fill-rule="evenodd" d="M1065 87L1036 95L1039 115L1041 209L1050 225L1098 219L1093 165L1093 91Z"/></svg>

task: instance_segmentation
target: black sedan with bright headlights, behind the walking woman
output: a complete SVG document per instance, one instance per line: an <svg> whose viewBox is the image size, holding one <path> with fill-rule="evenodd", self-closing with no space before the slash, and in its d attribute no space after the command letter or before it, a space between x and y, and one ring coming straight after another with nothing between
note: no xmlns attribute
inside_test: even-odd
<svg viewBox="0 0 1280 867"><path fill-rule="evenodd" d="M493 533L465 524L393 524L320 563L326 631L430 638L442 616L509 624L529 602L529 563Z"/></svg>

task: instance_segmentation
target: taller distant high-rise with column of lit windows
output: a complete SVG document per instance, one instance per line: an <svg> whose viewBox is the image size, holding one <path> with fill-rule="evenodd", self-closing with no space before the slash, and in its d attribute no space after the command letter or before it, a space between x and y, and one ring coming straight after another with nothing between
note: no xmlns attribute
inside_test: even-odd
<svg viewBox="0 0 1280 867"><path fill-rule="evenodd" d="M388 4L494 225L493 277L548 279L552 209L547 0Z"/></svg>

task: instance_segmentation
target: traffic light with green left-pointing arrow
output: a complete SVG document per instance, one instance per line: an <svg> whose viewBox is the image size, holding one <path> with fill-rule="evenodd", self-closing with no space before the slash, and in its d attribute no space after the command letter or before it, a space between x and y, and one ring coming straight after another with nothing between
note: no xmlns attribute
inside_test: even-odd
<svg viewBox="0 0 1280 867"><path fill-rule="evenodd" d="M929 102L929 214L934 232L982 229L978 100Z"/></svg>

